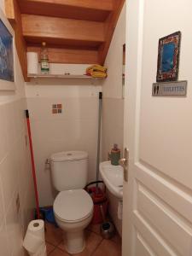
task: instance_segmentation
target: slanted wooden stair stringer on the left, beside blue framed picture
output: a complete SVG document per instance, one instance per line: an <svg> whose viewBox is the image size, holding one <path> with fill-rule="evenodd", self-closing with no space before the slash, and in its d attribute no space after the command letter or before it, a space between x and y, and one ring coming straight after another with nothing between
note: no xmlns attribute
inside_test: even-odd
<svg viewBox="0 0 192 256"><path fill-rule="evenodd" d="M5 12L15 31L15 47L24 80L29 81L27 78L26 42L22 36L20 9L16 0L5 1Z"/></svg>

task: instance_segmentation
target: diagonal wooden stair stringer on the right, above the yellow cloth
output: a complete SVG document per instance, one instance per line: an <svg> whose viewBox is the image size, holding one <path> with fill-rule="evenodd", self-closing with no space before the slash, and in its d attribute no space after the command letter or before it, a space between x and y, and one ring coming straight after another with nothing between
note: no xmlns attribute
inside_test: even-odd
<svg viewBox="0 0 192 256"><path fill-rule="evenodd" d="M119 15L121 13L121 10L123 9L124 3L125 3L125 0L114 0L113 13L111 15L109 15L108 20L105 22L106 42L103 43L99 49L99 62L102 65L104 64L106 56L108 55L108 49L111 44L111 40L113 38L113 32L117 25Z"/></svg>

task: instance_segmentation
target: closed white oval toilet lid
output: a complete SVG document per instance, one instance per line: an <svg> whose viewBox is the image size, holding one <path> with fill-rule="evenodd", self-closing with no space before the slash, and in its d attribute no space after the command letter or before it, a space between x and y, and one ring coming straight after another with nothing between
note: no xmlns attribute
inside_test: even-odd
<svg viewBox="0 0 192 256"><path fill-rule="evenodd" d="M61 191L55 198L55 215L67 222L86 218L92 210L93 201L84 189Z"/></svg>

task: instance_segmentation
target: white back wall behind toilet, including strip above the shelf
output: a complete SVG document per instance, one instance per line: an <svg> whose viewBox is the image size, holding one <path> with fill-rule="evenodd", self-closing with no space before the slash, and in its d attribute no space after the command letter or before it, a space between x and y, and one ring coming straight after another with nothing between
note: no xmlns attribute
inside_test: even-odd
<svg viewBox="0 0 192 256"><path fill-rule="evenodd" d="M84 73L87 65L52 64L52 73ZM89 154L89 181L96 179L98 83L88 79L38 79L26 83L27 105L41 206L53 204L55 191L44 163L50 154L85 150ZM61 103L63 112L52 114L52 104Z"/></svg>

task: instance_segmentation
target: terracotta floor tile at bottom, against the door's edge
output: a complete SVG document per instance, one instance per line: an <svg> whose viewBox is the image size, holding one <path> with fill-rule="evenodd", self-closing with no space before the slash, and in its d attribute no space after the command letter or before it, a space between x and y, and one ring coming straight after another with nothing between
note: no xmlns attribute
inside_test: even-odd
<svg viewBox="0 0 192 256"><path fill-rule="evenodd" d="M103 240L100 246L96 249L96 252L92 254L93 256L120 256L121 246L119 243Z"/></svg>

